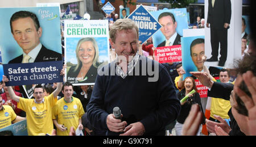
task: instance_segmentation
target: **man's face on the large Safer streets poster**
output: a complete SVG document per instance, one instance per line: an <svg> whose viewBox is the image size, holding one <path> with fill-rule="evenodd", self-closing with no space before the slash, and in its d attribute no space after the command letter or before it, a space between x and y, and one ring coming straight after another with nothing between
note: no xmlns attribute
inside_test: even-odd
<svg viewBox="0 0 256 147"><path fill-rule="evenodd" d="M23 52L29 53L40 43L42 28L36 30L34 21L27 18L19 18L11 23L13 28L13 37L23 49Z"/></svg>

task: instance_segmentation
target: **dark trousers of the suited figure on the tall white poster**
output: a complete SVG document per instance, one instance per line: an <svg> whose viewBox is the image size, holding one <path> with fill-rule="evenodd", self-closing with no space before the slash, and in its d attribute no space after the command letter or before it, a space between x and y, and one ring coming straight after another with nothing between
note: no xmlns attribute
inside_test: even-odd
<svg viewBox="0 0 256 147"><path fill-rule="evenodd" d="M212 45L212 57L218 58L218 47L220 44L220 61L226 62L228 54L228 29L216 29L210 27L210 44Z"/></svg>

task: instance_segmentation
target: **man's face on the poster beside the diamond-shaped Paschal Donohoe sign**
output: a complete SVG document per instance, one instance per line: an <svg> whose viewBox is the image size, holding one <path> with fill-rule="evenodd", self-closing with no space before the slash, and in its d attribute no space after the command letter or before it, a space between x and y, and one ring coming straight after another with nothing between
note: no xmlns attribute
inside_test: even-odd
<svg viewBox="0 0 256 147"><path fill-rule="evenodd" d="M176 32L177 22L174 23L172 17L168 15L160 18L159 23L162 25L160 31L163 33L167 40L170 39L170 37Z"/></svg>

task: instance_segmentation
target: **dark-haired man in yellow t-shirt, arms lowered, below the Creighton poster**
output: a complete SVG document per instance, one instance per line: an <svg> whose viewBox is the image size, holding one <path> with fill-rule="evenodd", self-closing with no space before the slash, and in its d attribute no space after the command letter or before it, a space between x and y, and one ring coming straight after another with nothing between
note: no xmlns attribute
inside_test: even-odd
<svg viewBox="0 0 256 147"><path fill-rule="evenodd" d="M80 99L72 96L73 85L70 82L65 82L62 87L64 97L59 99L52 109L53 123L57 127L58 136L68 136L70 128L82 130L82 115L84 108Z"/></svg>

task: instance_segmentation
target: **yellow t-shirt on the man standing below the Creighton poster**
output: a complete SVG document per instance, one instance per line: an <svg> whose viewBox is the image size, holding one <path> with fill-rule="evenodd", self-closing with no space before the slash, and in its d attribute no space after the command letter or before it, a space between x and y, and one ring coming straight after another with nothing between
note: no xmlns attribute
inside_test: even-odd
<svg viewBox="0 0 256 147"><path fill-rule="evenodd" d="M79 125L79 119L84 114L80 99L72 97L71 103L65 102L64 98L59 99L52 108L52 119L57 119L59 124L64 124L67 127L67 131L62 132L57 128L57 135L68 136L72 126L76 130Z"/></svg>

